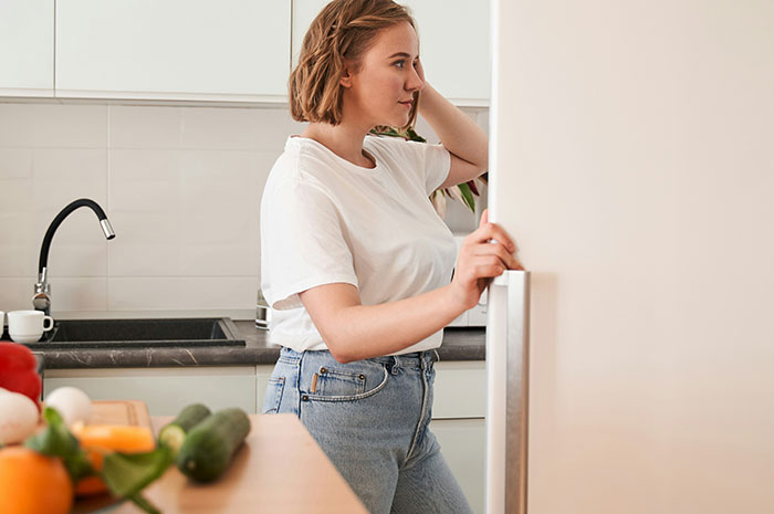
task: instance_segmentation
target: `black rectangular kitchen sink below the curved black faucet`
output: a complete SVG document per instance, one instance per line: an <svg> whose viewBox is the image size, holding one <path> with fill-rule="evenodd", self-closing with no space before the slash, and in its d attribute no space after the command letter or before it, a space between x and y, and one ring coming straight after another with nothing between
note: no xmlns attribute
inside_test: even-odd
<svg viewBox="0 0 774 514"><path fill-rule="evenodd" d="M244 346L230 317L172 319L70 319L32 349Z"/></svg>

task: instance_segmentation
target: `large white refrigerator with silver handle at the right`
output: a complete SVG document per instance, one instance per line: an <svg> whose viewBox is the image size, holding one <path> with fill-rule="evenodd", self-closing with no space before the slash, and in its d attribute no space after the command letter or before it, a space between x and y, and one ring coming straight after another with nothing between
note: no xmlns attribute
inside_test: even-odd
<svg viewBox="0 0 774 514"><path fill-rule="evenodd" d="M774 2L491 13L487 513L774 513Z"/></svg>

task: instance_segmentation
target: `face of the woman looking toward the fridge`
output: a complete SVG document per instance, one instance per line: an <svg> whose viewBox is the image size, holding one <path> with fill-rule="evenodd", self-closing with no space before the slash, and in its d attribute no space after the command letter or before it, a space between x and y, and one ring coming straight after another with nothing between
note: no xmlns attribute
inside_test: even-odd
<svg viewBox="0 0 774 514"><path fill-rule="evenodd" d="M414 28L400 23L379 31L360 64L357 73L342 78L345 117L368 127L406 125L414 93L425 86Z"/></svg>

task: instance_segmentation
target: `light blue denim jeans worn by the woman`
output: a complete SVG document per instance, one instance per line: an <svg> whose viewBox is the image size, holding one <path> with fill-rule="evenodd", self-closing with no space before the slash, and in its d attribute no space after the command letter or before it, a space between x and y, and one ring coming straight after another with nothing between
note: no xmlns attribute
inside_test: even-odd
<svg viewBox="0 0 774 514"><path fill-rule="evenodd" d="M428 429L433 355L341 364L283 347L263 413L297 416L372 514L470 514Z"/></svg>

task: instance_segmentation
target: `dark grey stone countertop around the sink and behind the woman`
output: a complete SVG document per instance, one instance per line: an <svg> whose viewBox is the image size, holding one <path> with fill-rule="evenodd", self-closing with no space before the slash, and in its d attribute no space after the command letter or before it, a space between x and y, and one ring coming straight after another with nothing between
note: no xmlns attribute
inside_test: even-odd
<svg viewBox="0 0 774 514"><path fill-rule="evenodd" d="M111 348L43 349L45 369L148 368L175 366L251 366L274 364L280 346L269 344L269 333L255 328L252 321L234 322L245 346L197 348ZM440 360L483 360L484 328L447 328L438 348Z"/></svg>

